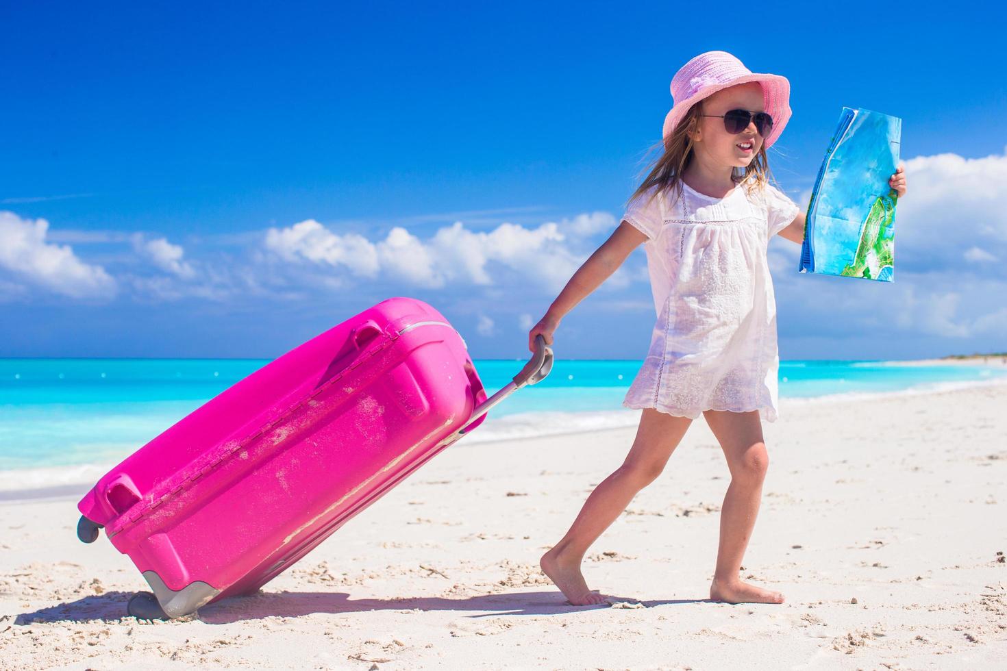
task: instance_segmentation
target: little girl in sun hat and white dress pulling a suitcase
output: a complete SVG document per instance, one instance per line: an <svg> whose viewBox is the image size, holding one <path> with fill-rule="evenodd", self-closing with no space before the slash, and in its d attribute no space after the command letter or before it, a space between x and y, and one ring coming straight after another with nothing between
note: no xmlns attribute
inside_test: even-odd
<svg viewBox="0 0 1007 671"><path fill-rule="evenodd" d="M710 599L780 604L738 571L755 524L768 455L760 420L776 418L776 316L766 245L804 240L805 214L767 179L766 149L790 117L789 82L753 73L725 51L702 53L672 79L664 154L618 228L574 274L529 333L552 344L560 320L640 242L658 321L625 407L642 408L622 466L599 484L566 535L542 556L574 605L600 604L580 571L587 548L662 472L692 421L706 418L731 483L720 516ZM899 165L889 179L905 195Z"/></svg>

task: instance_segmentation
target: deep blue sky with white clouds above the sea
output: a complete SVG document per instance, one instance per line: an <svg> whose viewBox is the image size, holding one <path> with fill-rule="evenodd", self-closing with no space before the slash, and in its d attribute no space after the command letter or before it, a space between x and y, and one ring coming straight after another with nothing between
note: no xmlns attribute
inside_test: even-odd
<svg viewBox="0 0 1007 671"><path fill-rule="evenodd" d="M1007 351L1000 28L831 13L0 3L0 357L275 358L410 296L473 358L525 358L711 49L789 79L769 166L802 208L843 106L903 120L895 282L799 275L774 238L780 357ZM645 264L564 317L557 357L645 355Z"/></svg>

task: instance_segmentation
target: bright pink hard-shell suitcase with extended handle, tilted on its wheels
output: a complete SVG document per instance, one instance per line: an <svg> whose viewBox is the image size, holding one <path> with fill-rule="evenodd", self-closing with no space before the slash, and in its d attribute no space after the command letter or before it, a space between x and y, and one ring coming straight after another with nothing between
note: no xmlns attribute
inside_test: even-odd
<svg viewBox="0 0 1007 671"><path fill-rule="evenodd" d="M422 301L393 298L318 335L193 410L78 504L153 595L130 615L177 618L250 594L549 374L532 360L487 398L464 340Z"/></svg>

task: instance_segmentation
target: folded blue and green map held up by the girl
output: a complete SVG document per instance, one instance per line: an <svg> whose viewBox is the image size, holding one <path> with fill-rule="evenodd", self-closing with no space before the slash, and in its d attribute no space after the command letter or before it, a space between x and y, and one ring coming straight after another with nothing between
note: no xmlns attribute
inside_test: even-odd
<svg viewBox="0 0 1007 671"><path fill-rule="evenodd" d="M801 250L802 273L891 282L902 120L843 108L819 169Z"/></svg>

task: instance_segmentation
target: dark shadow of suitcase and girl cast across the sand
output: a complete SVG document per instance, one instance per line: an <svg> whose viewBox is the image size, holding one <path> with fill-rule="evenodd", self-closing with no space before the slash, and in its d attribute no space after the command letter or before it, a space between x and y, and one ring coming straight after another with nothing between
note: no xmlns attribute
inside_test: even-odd
<svg viewBox="0 0 1007 671"><path fill-rule="evenodd" d="M108 592L85 597L76 602L39 609L17 616L15 625L36 622L120 622L129 618L126 603L133 596L128 592ZM677 604L713 603L709 599L676 599L637 601L610 597L610 601L641 604L645 608ZM571 606L559 592L514 592L502 595L480 595L466 599L418 597L405 599L350 599L341 592L260 592L248 597L231 597L199 609L196 619L213 625L269 617L299 618L313 613L365 613L369 611L475 611L469 618L492 618L508 615L563 615L580 611L609 608Z"/></svg>

